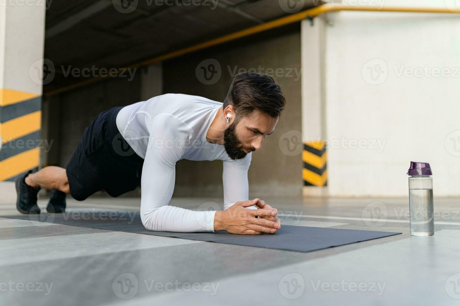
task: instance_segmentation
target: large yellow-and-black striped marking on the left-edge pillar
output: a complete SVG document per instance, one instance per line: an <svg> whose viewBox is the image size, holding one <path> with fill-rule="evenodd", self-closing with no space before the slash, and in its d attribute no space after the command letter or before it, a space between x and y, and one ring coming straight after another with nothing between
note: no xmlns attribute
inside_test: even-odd
<svg viewBox="0 0 460 306"><path fill-rule="evenodd" d="M0 89L0 181L39 165L41 96Z"/></svg>

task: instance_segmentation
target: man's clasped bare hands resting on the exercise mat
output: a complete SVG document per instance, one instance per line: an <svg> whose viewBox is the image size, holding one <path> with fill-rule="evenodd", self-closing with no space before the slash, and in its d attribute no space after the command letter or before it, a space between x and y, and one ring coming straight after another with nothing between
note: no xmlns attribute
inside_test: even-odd
<svg viewBox="0 0 460 306"><path fill-rule="evenodd" d="M265 202L264 202L265 203ZM247 209L245 207L257 205L259 209ZM275 233L279 224L266 219L276 219L278 213L274 208L263 209L259 199L236 202L224 211L216 211L214 216L214 230L225 230L231 234L257 235L262 233ZM256 218L258 216L258 218ZM279 221L279 220L278 220Z"/></svg>

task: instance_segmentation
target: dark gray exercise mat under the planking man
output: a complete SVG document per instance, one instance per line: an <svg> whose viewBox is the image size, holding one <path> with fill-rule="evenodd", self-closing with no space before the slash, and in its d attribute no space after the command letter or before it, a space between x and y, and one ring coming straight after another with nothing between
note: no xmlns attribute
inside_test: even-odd
<svg viewBox="0 0 460 306"><path fill-rule="evenodd" d="M90 214L78 214L77 216L78 217L75 217L71 212L65 212L60 214L41 213L40 215L31 214L1 217L299 252L322 250L334 246L348 245L351 243L401 234L394 232L341 228L314 228L293 225L282 225L276 234L262 235L234 235L225 231L214 233L154 232L145 229L139 214L134 212L128 214L115 213L114 211L92 211Z"/></svg>

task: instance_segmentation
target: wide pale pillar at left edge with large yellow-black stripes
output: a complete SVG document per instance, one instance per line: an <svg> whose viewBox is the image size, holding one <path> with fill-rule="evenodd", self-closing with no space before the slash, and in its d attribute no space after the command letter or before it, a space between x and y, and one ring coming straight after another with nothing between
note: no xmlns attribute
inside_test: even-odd
<svg viewBox="0 0 460 306"><path fill-rule="evenodd" d="M0 5L0 181L39 166L44 33L45 1Z"/></svg>

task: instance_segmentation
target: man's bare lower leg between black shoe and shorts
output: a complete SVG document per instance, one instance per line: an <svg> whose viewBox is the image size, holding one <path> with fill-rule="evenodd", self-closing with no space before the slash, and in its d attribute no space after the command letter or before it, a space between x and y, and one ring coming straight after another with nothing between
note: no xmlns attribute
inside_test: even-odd
<svg viewBox="0 0 460 306"><path fill-rule="evenodd" d="M25 183L32 188L42 187L49 190L59 190L69 194L69 180L64 168L48 166L40 171L31 173L25 178Z"/></svg>

